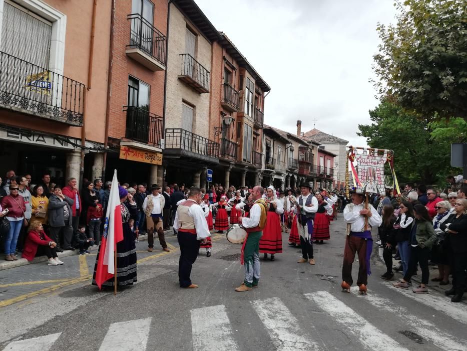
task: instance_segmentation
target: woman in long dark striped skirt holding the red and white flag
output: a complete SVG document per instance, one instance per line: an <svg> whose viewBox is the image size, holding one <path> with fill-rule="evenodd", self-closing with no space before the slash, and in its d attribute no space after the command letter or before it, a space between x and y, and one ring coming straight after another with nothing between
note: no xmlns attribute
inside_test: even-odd
<svg viewBox="0 0 467 351"><path fill-rule="evenodd" d="M133 285L138 280L136 273L136 246L135 237L130 228L130 219L138 217L138 206L133 200L133 196L122 187L118 188L120 197L120 212L122 213L123 240L117 243L117 285ZM126 201L128 199L128 201ZM107 234L104 234L107 235ZM102 243L101 243L102 244ZM96 283L97 263L101 252L101 245L97 251L96 264L94 265L93 285ZM114 286L114 277L102 283L105 288Z"/></svg>

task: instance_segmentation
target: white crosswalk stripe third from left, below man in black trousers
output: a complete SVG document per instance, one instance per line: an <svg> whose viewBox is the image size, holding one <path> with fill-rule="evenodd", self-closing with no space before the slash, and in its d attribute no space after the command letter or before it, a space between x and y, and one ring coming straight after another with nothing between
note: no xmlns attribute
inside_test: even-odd
<svg viewBox="0 0 467 351"><path fill-rule="evenodd" d="M238 350L224 305L192 309L193 350Z"/></svg>

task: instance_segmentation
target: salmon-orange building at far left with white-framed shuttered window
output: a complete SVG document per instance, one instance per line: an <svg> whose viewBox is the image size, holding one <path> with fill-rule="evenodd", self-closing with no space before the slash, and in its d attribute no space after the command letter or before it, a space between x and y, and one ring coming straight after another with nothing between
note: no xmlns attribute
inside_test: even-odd
<svg viewBox="0 0 467 351"><path fill-rule="evenodd" d="M110 2L0 0L0 174L100 174L110 15Z"/></svg>

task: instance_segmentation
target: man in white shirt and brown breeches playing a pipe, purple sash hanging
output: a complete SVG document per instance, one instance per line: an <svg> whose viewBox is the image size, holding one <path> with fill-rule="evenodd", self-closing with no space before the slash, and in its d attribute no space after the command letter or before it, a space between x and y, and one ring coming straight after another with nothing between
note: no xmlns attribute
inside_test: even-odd
<svg viewBox="0 0 467 351"><path fill-rule="evenodd" d="M344 262L342 264L342 284L343 290L350 292L352 279L352 263L355 253L358 253L358 278L357 285L360 293L366 293L368 285L368 274L370 271L370 256L373 248L371 238L371 227L379 227L382 223L381 217L373 206L365 208L365 195L359 192L352 193L352 203L345 206L344 221L347 223L347 238L344 248ZM368 224L365 228L365 219Z"/></svg>

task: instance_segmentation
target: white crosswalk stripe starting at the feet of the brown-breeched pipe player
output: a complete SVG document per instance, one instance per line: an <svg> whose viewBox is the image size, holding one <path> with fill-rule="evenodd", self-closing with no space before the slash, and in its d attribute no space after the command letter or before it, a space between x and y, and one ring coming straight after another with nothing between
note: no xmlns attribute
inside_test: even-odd
<svg viewBox="0 0 467 351"><path fill-rule="evenodd" d="M351 289L351 292L360 296L358 288L355 290ZM467 342L465 340L458 340L454 336L439 329L430 321L411 314L407 308L402 307L385 297L378 296L371 292L369 295L362 296L362 299L368 301L378 310L384 310L391 313L397 311L397 317L401 321L410 325L419 335L423 335L423 338L430 340L441 349L459 351L467 350Z"/></svg>

